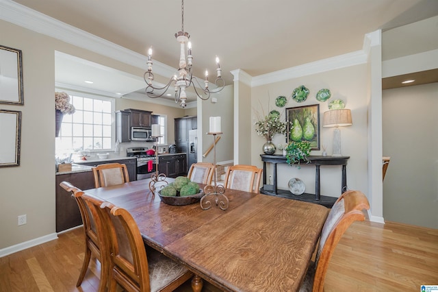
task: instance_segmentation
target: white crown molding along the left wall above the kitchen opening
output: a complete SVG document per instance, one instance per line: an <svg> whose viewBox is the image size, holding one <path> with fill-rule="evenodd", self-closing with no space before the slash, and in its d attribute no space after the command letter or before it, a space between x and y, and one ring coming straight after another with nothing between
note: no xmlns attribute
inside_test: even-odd
<svg viewBox="0 0 438 292"><path fill-rule="evenodd" d="M25 27L34 32L68 42L71 45L99 53L125 64L147 70L147 57L85 32L77 27L53 19L11 0L0 0L0 19ZM177 69L154 60L154 73L172 77Z"/></svg>

